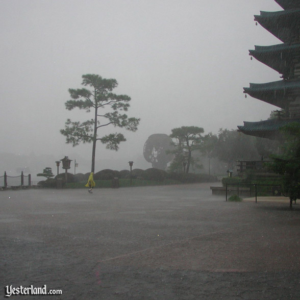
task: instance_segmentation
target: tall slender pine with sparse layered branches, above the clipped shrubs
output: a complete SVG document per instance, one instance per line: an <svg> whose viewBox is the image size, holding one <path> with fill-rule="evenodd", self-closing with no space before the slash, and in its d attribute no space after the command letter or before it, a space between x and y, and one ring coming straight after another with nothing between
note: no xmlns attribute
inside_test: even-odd
<svg viewBox="0 0 300 300"><path fill-rule="evenodd" d="M66 136L66 142L76 146L83 143L92 143L91 172L95 171L96 142L106 144L106 148L117 151L119 143L126 141L121 133L111 133L101 138L97 132L103 127L112 125L129 131L136 131L140 119L129 118L126 114L130 107L131 98L128 95L116 95L112 90L118 86L115 79L105 79L99 75L86 74L82 76L82 85L90 87L69 89L71 100L65 103L67 110L79 108L87 113L92 111L93 118L84 122L67 119L65 129L60 132Z"/></svg>

